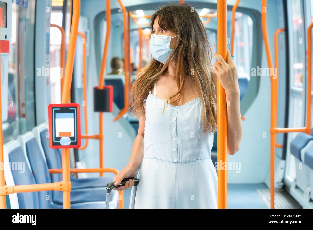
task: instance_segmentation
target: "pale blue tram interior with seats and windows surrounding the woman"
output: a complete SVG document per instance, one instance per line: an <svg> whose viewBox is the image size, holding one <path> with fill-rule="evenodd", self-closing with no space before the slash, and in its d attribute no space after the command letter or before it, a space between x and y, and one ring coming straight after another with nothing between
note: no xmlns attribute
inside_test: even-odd
<svg viewBox="0 0 313 230"><path fill-rule="evenodd" d="M179 1L169 0L109 2L108 33L106 1L80 0L79 33L69 95L71 103L80 104L82 133L82 147L69 150L70 168L78 169L72 171L70 179L73 208L103 205L106 194L101 187L111 182L114 176L113 170L79 169L122 170L128 163L138 132L138 119L127 111L127 97L131 83L151 60L149 16L163 5L179 4ZM217 52L217 1L186 0L185 3L198 12L212 52ZM63 101L60 76L63 76L68 61L73 4L71 0L0 0L0 7L7 12L1 28L4 161L26 162L25 174L16 175L14 170L4 170L6 185L23 185L27 169L31 169L28 176L33 179L26 184L62 180L62 174L54 170L62 168L62 151L50 149L46 138L47 108L50 103ZM275 208L313 208L313 136L307 133L308 129L305 132L276 133L275 155L272 156L275 159L272 172L274 188L271 184L271 108L275 102L271 96L273 83L266 74L269 62L262 36L262 13L262 0L227 0L227 48L232 50L239 73L243 124L240 150L227 156L227 207L270 208L272 188L275 190ZM279 70L276 127L305 127L307 120L311 119L306 105L308 50L312 43L308 40L312 33L308 28L313 22L313 1L267 1L266 18L270 54L275 61L274 67ZM276 43L278 29L282 30ZM109 36L108 46L105 44L106 36ZM5 41L9 43L9 52L3 52ZM114 60L121 62L122 67L118 70L112 68ZM216 59L213 57L214 62ZM99 85L102 67L105 67L103 85L113 86L114 103L111 112L101 113L101 121L99 112L95 112L93 107L96 104L94 87ZM99 127L103 130L102 144L96 136ZM103 158L100 156L101 148ZM217 161L215 133L212 162L216 165ZM42 178L42 175L46 176ZM91 194L88 194L89 190L92 190ZM26 198L20 194L6 196L7 208L62 207L61 191L38 192L38 197L52 197L51 206L31 203L41 199L37 195L34 197L34 192L25 193ZM110 207L127 208L131 189L124 191L122 202L118 197L118 192L113 192Z"/></svg>

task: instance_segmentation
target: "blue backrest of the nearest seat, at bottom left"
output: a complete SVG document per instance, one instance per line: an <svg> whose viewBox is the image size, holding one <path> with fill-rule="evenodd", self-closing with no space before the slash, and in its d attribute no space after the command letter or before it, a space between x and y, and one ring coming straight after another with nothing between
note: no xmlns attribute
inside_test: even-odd
<svg viewBox="0 0 313 230"><path fill-rule="evenodd" d="M33 185L35 178L18 141L3 145L4 175L8 186ZM38 192L9 194L11 208L39 208Z"/></svg>

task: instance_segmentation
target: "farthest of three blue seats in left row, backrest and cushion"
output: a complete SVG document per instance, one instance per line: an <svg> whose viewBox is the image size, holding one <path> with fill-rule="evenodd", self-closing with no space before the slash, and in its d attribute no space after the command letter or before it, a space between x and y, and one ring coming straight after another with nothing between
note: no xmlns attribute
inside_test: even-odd
<svg viewBox="0 0 313 230"><path fill-rule="evenodd" d="M49 138L47 138L48 129L46 124L40 124L33 128L33 134L37 139L39 148L43 153L44 159L47 162L49 169L61 169L62 168L62 153L59 149L51 149L49 147ZM97 178L75 178L70 177L72 189L81 188L99 188L105 187L112 181L112 178L97 177ZM62 181L62 174L51 174L51 181Z"/></svg>

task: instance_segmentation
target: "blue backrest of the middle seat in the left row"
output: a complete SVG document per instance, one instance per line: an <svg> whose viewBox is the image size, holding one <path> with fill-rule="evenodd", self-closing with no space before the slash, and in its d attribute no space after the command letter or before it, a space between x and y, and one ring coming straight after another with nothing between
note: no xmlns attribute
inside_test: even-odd
<svg viewBox="0 0 313 230"><path fill-rule="evenodd" d="M50 173L44 156L32 132L18 137L24 153L26 153L32 173L37 184L51 183ZM52 201L52 191L39 191L39 208L49 208Z"/></svg>

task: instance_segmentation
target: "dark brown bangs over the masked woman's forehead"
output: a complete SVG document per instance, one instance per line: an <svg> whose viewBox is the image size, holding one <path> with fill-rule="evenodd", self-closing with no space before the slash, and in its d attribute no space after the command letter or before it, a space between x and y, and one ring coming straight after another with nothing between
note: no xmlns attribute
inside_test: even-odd
<svg viewBox="0 0 313 230"><path fill-rule="evenodd" d="M153 28L153 24L156 18L160 28L177 31L174 26L173 12L171 12L170 8L161 8L152 15L150 23L151 29Z"/></svg>

